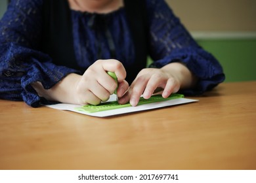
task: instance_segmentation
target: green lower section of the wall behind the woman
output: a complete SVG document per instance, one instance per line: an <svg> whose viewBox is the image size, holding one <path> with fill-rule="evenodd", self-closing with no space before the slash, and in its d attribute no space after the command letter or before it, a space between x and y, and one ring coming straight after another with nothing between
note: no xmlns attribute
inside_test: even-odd
<svg viewBox="0 0 256 183"><path fill-rule="evenodd" d="M256 38L197 41L223 65L225 82L256 80Z"/></svg>

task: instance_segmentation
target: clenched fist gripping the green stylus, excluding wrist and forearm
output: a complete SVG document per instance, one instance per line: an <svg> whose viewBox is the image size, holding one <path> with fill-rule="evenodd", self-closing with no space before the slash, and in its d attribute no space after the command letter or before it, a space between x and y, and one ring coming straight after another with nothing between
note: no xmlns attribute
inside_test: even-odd
<svg viewBox="0 0 256 183"><path fill-rule="evenodd" d="M128 90L129 85L125 81L126 71L121 62L116 59L101 59L91 65L81 79L77 80L75 86L77 103L97 105L109 99L116 90L117 83L106 71L114 72L117 76L119 82L117 96L121 97Z"/></svg>

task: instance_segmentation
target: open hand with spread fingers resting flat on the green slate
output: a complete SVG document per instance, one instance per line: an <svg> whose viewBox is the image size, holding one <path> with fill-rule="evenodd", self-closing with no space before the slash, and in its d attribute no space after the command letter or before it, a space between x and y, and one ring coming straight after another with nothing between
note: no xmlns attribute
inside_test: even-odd
<svg viewBox="0 0 256 183"><path fill-rule="evenodd" d="M140 96L148 99L161 90L164 98L176 93L180 88L190 88L196 83L196 77L182 63L169 63L161 69L142 69L129 90L119 99L120 104L130 101L131 105L139 103Z"/></svg>

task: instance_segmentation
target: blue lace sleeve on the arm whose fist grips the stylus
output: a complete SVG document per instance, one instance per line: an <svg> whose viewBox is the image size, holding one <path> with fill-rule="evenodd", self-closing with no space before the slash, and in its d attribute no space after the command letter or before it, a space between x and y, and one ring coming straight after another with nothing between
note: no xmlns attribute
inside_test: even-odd
<svg viewBox="0 0 256 183"><path fill-rule="evenodd" d="M43 0L12 0L0 22L0 98L25 101L38 107L44 99L33 82L51 88L73 69L56 66L37 51L41 35Z"/></svg>

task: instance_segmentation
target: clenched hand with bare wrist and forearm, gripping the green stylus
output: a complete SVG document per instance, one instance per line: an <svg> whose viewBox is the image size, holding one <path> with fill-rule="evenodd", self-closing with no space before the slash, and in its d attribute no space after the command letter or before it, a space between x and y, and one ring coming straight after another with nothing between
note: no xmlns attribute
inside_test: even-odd
<svg viewBox="0 0 256 183"><path fill-rule="evenodd" d="M116 59L99 59L82 76L72 73L49 90L43 89L41 83L38 82L32 86L41 97L50 101L97 105L101 101L107 101L117 88L116 81L106 71L116 73L119 82L117 96L123 96L129 84L125 81L125 68Z"/></svg>

